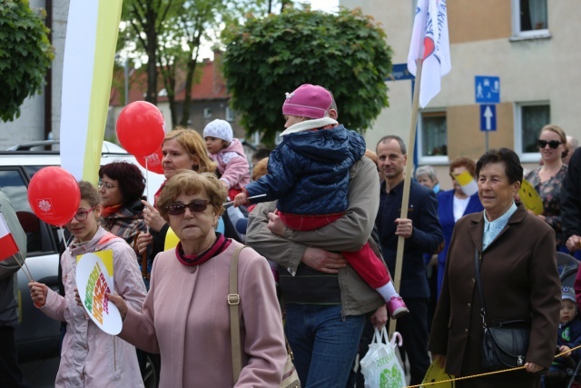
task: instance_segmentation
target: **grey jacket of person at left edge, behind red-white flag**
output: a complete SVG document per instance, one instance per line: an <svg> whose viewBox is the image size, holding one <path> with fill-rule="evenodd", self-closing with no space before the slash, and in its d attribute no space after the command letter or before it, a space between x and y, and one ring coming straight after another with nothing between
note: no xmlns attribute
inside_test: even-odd
<svg viewBox="0 0 581 388"><path fill-rule="evenodd" d="M15 208L10 203L6 194L0 191L0 213L4 215L8 229L15 238L22 257L26 257L26 234L16 217ZM5 257L0 257L0 260ZM16 272L20 265L16 263L14 256L0 262L0 326L15 326L18 324L18 309L15 295Z"/></svg>

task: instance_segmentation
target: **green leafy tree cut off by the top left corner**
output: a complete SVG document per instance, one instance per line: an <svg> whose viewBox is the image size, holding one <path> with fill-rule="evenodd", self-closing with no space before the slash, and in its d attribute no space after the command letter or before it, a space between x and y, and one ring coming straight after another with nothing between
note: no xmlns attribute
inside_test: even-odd
<svg viewBox="0 0 581 388"><path fill-rule="evenodd" d="M27 0L0 1L0 120L20 116L26 97L42 92L54 59L44 15Z"/></svg>

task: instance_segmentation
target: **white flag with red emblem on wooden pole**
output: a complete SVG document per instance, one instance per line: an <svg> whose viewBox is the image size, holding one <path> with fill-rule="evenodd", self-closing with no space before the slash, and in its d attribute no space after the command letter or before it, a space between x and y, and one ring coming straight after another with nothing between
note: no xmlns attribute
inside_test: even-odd
<svg viewBox="0 0 581 388"><path fill-rule="evenodd" d="M423 108L438 95L442 76L452 68L446 0L418 0L408 54L412 75L416 75L420 58L424 60L419 85L419 106Z"/></svg>

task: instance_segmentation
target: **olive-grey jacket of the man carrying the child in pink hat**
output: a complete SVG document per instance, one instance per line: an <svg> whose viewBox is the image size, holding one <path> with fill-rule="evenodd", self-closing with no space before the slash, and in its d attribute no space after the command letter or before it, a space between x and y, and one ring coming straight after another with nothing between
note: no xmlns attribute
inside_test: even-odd
<svg viewBox="0 0 581 388"><path fill-rule="evenodd" d="M271 234L268 214L276 204L258 204L249 217L246 242L258 253L296 274L300 259L310 246L328 251L353 251L369 241L381 257L377 244L369 237L379 209L379 176L375 164L361 158L350 169L349 207L339 220L309 232L286 228L283 236ZM359 315L376 310L385 301L349 265L339 271L343 314ZM316 292L316 290L313 290Z"/></svg>

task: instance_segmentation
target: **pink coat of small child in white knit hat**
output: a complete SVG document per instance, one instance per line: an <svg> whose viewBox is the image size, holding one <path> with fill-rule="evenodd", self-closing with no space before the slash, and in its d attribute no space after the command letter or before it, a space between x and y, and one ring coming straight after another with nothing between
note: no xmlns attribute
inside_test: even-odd
<svg viewBox="0 0 581 388"><path fill-rule="evenodd" d="M210 158L217 164L218 172L222 174L220 180L225 181L229 189L241 189L251 182L248 159L237 138L233 138L231 144L218 154L210 154Z"/></svg>

